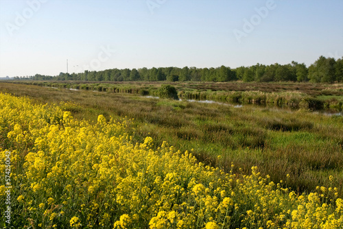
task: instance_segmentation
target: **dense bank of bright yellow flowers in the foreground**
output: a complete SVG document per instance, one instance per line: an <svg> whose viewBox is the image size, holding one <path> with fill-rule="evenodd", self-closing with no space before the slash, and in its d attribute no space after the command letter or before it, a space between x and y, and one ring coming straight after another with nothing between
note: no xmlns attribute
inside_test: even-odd
<svg viewBox="0 0 343 229"><path fill-rule="evenodd" d="M0 165L3 173L11 151L16 228L343 227L334 188L299 195L257 167L224 173L150 137L134 144L127 120L100 115L91 125L6 94L0 104ZM1 176L1 196L4 184Z"/></svg>

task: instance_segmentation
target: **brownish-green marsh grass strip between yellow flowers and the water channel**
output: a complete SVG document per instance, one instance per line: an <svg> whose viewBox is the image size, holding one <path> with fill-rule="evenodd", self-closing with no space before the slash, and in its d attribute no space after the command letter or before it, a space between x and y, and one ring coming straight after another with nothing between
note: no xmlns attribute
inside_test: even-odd
<svg viewBox="0 0 343 229"><path fill-rule="evenodd" d="M128 128L134 141L152 136L155 147L167 141L181 151L192 149L198 160L226 171L231 162L246 173L257 166L274 182L283 180L296 191L329 186L329 176L333 176L343 196L343 117L91 90L0 84L0 92L32 97L37 103L71 101L64 110L76 119L96 122L98 115L134 119Z"/></svg>

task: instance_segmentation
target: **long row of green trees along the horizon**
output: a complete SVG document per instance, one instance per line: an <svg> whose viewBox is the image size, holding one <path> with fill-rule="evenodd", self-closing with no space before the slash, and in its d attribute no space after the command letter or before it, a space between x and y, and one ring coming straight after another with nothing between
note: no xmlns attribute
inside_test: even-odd
<svg viewBox="0 0 343 229"><path fill-rule="evenodd" d="M82 80L82 81L202 81L202 82L343 82L343 58L320 56L314 64L307 67L304 63L256 64L251 67L203 68L159 67L152 69L108 69L105 71L84 71L84 73L60 73L56 76L32 75L14 77L14 80Z"/></svg>

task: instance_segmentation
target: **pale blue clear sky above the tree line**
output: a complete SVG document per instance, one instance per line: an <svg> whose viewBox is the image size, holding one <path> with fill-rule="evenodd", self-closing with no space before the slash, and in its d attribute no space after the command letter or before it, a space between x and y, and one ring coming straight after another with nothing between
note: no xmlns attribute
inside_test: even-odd
<svg viewBox="0 0 343 229"><path fill-rule="evenodd" d="M343 56L342 0L0 0L0 77Z"/></svg>

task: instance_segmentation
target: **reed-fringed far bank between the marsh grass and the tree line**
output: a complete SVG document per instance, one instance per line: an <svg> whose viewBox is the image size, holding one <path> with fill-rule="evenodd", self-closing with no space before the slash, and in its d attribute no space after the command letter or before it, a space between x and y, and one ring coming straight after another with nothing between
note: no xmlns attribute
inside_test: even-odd
<svg viewBox="0 0 343 229"><path fill-rule="evenodd" d="M158 88L165 82L89 83L89 82L37 82L27 84L75 90L126 93L134 95L158 95ZM343 84L294 84L294 83L173 83L181 99L224 101L239 104L288 106L310 110L338 110L343 108Z"/></svg>

